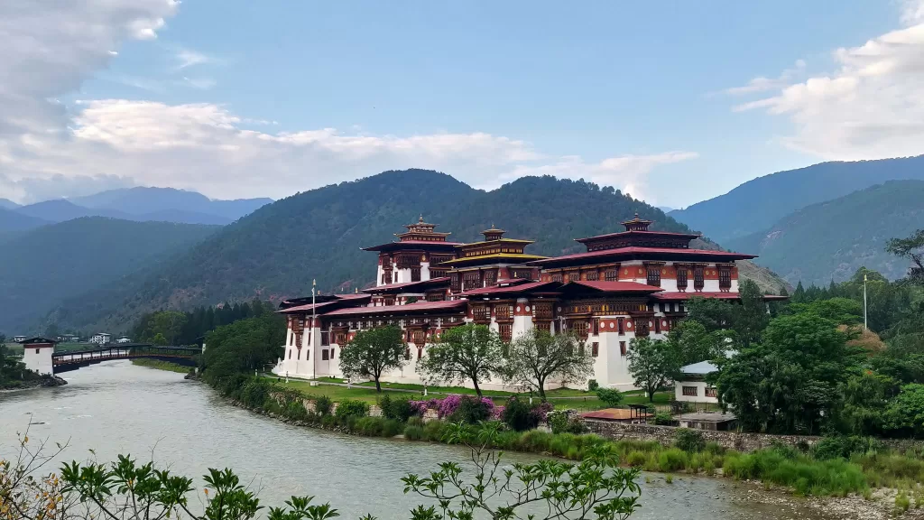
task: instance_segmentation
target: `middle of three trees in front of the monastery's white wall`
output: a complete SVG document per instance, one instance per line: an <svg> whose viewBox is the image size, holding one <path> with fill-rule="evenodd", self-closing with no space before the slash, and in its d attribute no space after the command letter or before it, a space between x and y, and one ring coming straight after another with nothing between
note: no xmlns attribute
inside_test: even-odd
<svg viewBox="0 0 924 520"><path fill-rule="evenodd" d="M427 349L417 365L431 380L451 383L471 381L481 396L480 381L499 375L504 364L503 341L491 328L468 324L446 330Z"/></svg>

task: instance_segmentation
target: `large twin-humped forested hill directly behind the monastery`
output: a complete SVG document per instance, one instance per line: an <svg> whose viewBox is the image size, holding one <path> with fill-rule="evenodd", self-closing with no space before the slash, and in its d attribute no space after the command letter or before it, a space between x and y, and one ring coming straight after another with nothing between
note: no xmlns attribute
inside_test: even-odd
<svg viewBox="0 0 924 520"><path fill-rule="evenodd" d="M654 220L653 229L688 230L583 181L524 178L483 192L433 171L388 171L263 206L145 279L66 301L55 319L116 327L157 308L303 295L312 279L322 291L354 291L375 276L375 254L359 248L395 240L421 215L454 241L480 239L493 224L508 237L536 240L529 252L553 255L582 251L573 239L620 230L636 212Z"/></svg>

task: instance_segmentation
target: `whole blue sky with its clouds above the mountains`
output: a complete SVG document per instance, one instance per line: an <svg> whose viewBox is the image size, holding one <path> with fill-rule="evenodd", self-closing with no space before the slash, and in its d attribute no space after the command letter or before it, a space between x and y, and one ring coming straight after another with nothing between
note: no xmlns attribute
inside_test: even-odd
<svg viewBox="0 0 924 520"><path fill-rule="evenodd" d="M430 168L684 207L924 154L924 0L0 2L0 197Z"/></svg>

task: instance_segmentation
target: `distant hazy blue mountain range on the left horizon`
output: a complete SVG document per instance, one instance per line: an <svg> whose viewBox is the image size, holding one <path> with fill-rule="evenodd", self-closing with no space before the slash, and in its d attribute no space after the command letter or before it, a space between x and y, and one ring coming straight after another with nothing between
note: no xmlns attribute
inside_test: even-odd
<svg viewBox="0 0 924 520"><path fill-rule="evenodd" d="M0 199L0 232L34 229L80 217L221 226L272 202L272 199L267 198L213 201L197 192L144 187L109 190L29 205Z"/></svg>

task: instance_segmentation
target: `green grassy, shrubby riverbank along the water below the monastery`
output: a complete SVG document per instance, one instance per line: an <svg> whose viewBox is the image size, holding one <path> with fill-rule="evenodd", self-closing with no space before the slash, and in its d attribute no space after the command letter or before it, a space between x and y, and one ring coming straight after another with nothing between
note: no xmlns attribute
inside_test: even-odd
<svg viewBox="0 0 924 520"><path fill-rule="evenodd" d="M275 387L264 378L231 378L216 384L215 390L238 406L295 426L365 437L445 441L447 423L442 420L425 422L410 417L401 422L368 416L368 409L357 415L332 414L329 404L316 412L313 405L311 410L305 406L301 392ZM623 464L645 471L757 481L768 489L783 489L814 501L860 500L879 514L916 517L924 513L924 487L920 485L924 481L924 460L914 454L880 451L876 447L849 452L846 458L817 458L814 452L783 446L742 453L706 443L696 430L687 428L678 428L675 445L669 447L656 441L606 440L594 434L555 434L535 429L500 431L492 447L569 460L580 460L588 450L603 447L618 455Z"/></svg>

